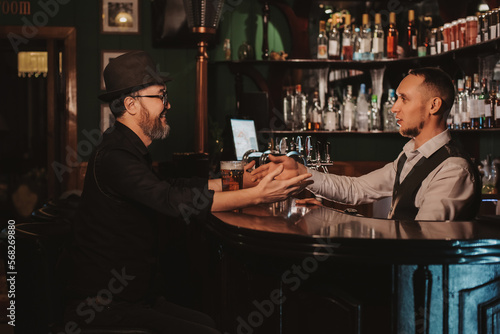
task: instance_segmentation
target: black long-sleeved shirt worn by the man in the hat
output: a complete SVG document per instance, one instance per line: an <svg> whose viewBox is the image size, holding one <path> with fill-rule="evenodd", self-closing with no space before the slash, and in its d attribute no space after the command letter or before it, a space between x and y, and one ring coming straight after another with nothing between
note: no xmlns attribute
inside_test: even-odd
<svg viewBox="0 0 500 334"><path fill-rule="evenodd" d="M161 180L140 138L116 122L87 167L72 242L73 297L139 301L155 274L158 213L203 219L213 191L207 179ZM107 291L102 291L103 289Z"/></svg>

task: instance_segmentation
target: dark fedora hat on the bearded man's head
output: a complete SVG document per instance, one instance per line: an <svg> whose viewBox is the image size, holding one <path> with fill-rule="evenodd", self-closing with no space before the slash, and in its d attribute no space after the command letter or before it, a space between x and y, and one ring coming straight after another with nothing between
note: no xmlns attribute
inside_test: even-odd
<svg viewBox="0 0 500 334"><path fill-rule="evenodd" d="M160 75L149 54L132 51L111 59L104 69L106 93L99 95L105 102L111 102L125 94L172 79Z"/></svg>

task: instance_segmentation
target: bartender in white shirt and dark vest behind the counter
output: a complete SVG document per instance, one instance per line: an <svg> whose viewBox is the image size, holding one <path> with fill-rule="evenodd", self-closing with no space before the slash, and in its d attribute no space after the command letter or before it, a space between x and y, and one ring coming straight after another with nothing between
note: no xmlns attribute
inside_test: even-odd
<svg viewBox="0 0 500 334"><path fill-rule="evenodd" d="M446 126L455 97L453 82L439 68L410 70L396 91L392 107L399 132L411 138L396 160L360 177L324 174L288 157L252 172L261 179L281 165L278 178L311 173L308 189L344 204L372 203L392 196L388 218L397 220L469 220L478 212L481 179L465 151Z"/></svg>

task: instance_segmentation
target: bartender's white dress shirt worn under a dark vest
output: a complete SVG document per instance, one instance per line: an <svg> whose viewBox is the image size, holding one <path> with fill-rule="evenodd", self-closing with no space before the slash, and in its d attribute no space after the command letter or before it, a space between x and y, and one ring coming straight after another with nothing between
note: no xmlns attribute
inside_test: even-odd
<svg viewBox="0 0 500 334"><path fill-rule="evenodd" d="M353 205L391 197L398 160L403 153L407 160L400 182L422 157L430 157L450 140L450 132L446 130L415 150L415 141L411 139L396 160L360 177L325 174L309 169L314 183L308 189L317 196ZM424 179L417 192L415 206L418 213L415 220L454 220L457 212L474 197L473 178L473 171L465 159L450 157L443 161Z"/></svg>

